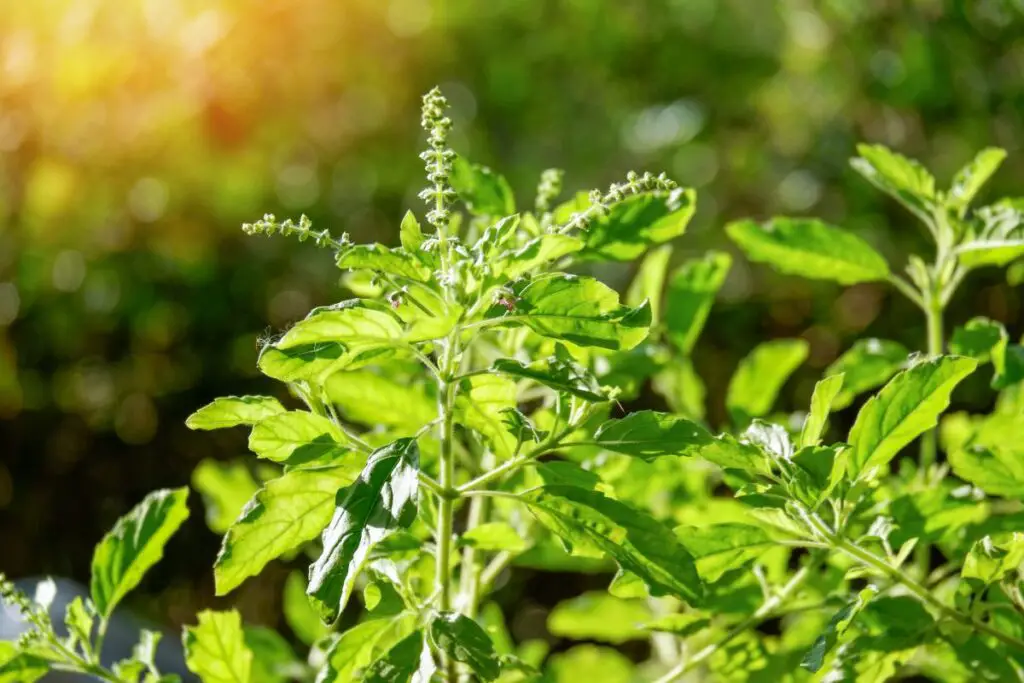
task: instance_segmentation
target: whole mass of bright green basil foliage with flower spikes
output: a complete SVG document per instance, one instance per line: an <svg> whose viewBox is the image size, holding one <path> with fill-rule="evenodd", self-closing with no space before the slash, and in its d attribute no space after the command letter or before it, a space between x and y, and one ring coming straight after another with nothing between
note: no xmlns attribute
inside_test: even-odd
<svg viewBox="0 0 1024 683"><path fill-rule="evenodd" d="M401 246L386 247L335 240L306 220L245 226L333 250L358 298L312 310L263 347L260 370L297 408L229 396L188 419L194 429L249 428L259 459L196 472L208 521L224 533L217 593L276 558L309 557L284 596L308 656L272 632L250 636L234 612L206 612L184 636L205 683L1021 673L1024 355L992 321L957 329L952 354L942 338L966 274L1024 255L1018 204L968 210L1001 153L982 153L940 193L915 163L861 148L854 166L935 240L935 261L911 257L909 280L819 221L730 225L752 259L784 272L893 283L930 334L922 353L859 342L797 415L774 404L807 343L760 344L729 383L728 424L713 427L691 353L730 258L708 254L670 273L666 245L684 232L694 194L630 174L558 204L552 171L532 210L517 210L500 175L447 148L444 108L436 91L424 100L432 229L409 213ZM622 300L582 274L642 256ZM947 416L949 465L939 464L934 428L982 362L994 368L997 409ZM669 411L623 414L648 384ZM845 438L827 439L831 412L876 389ZM920 462L898 458L919 437ZM159 546L176 523L145 523L155 507L147 499L130 519ZM138 545L138 533L118 533L119 552L97 551L100 613L144 569L110 568ZM607 592L558 605L548 628L612 645L647 639L649 660L594 644L549 657L543 642L513 642L493 596L516 566L615 571ZM119 571L134 583L119 584ZM78 666L57 657L55 637L44 640L49 650L26 643L3 666Z"/></svg>

